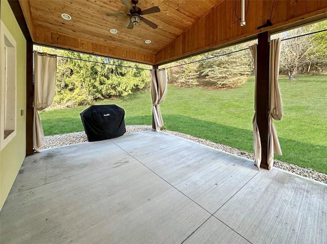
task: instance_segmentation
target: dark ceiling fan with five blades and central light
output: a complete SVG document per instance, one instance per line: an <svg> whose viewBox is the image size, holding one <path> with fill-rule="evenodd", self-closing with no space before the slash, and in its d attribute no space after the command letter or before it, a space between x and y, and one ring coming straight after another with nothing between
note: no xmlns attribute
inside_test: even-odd
<svg viewBox="0 0 327 244"><path fill-rule="evenodd" d="M152 7L146 10L142 10L136 6L138 3L138 0L132 0L132 6L128 0L121 0L123 4L128 8L129 14L123 14L123 13L107 13L107 16L129 16L129 24L127 25L127 29L133 29L134 25L139 24L139 22L143 21L147 25L149 25L151 28L156 29L158 25L153 23L152 21L144 18L141 15L145 14L152 14L152 13L158 13L160 12L159 7Z"/></svg>

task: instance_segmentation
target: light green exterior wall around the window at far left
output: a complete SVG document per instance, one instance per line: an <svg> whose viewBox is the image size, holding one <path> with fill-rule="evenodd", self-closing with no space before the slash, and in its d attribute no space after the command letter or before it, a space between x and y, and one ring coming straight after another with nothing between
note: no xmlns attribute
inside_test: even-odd
<svg viewBox="0 0 327 244"><path fill-rule="evenodd" d="M26 40L7 0L1 0L1 20L17 44L17 133L0 151L0 209L14 183L26 151ZM24 110L24 116L20 116Z"/></svg>

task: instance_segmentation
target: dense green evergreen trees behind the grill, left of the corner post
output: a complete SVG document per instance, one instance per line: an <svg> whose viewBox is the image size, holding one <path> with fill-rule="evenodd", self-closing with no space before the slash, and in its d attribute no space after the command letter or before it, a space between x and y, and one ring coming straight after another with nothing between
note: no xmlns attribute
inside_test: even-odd
<svg viewBox="0 0 327 244"><path fill-rule="evenodd" d="M47 47L36 46L35 49L67 57L57 58L56 94L52 107L86 105L96 100L126 96L150 84L150 72L138 69L148 69L147 65Z"/></svg>

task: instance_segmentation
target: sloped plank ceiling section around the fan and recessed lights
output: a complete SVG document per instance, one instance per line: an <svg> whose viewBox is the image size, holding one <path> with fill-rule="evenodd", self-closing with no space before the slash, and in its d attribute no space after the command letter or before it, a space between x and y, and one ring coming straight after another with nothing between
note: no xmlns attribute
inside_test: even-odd
<svg viewBox="0 0 327 244"><path fill-rule="evenodd" d="M156 23L158 28L152 29L141 22L129 30L128 16L106 16L106 13L129 13L119 0L20 0L21 5L24 2L29 5L34 42L42 42L39 40L39 32L45 29L52 33L151 55L167 46L221 1L140 0L137 7L142 10L154 6L160 8L159 13L144 15ZM62 19L62 13L71 15L72 20ZM116 29L118 33L111 34L110 29ZM151 40L150 44L145 43L147 39Z"/></svg>

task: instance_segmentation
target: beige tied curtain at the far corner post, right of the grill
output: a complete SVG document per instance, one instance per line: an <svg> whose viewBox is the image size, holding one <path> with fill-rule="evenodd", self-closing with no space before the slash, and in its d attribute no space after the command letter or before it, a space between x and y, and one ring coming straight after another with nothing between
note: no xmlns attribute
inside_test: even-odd
<svg viewBox="0 0 327 244"><path fill-rule="evenodd" d="M155 130L159 131L164 125L162 121L159 104L164 101L167 92L167 70L151 69L151 96L152 96L152 112L155 124Z"/></svg>

